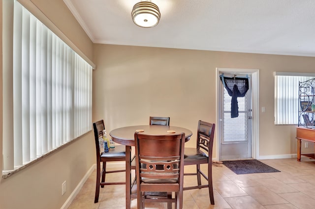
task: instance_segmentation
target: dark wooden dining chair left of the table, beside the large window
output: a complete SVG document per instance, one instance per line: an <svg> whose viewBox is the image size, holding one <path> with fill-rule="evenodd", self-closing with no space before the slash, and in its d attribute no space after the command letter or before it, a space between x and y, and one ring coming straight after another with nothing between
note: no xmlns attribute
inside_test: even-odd
<svg viewBox="0 0 315 209"><path fill-rule="evenodd" d="M96 121L93 123L94 136L95 136L95 148L96 148L96 188L95 188L95 200L98 202L99 187L104 185L117 185L126 184L126 182L105 182L106 174L125 172L126 170L106 170L106 162L111 161L126 161L126 146L116 145L115 148L110 148L107 153L100 153L98 138L102 136L103 130L105 130L104 120ZM102 164L102 165L101 165ZM102 177L100 179L100 177Z"/></svg>

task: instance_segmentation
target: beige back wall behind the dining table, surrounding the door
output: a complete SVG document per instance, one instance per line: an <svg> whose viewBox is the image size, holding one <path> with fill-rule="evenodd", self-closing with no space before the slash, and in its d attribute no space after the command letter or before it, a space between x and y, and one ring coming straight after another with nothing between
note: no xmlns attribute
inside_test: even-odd
<svg viewBox="0 0 315 209"><path fill-rule="evenodd" d="M93 118L108 131L169 116L193 131L194 146L198 120L216 122L216 68L259 69L259 156L296 154L294 126L274 125L273 72L314 72L315 57L117 45L95 45L94 54Z"/></svg>

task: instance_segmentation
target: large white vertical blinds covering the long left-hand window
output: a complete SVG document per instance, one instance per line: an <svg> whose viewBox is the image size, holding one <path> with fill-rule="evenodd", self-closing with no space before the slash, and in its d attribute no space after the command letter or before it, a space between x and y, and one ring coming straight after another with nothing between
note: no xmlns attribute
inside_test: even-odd
<svg viewBox="0 0 315 209"><path fill-rule="evenodd" d="M14 2L13 170L91 130L92 66ZM12 139L3 139L12 140ZM6 158L14 158L14 164Z"/></svg>

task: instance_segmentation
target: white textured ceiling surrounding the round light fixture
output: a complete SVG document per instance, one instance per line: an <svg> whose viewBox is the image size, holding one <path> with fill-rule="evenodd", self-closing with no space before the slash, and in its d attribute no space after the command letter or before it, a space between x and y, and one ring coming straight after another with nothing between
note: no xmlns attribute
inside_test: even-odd
<svg viewBox="0 0 315 209"><path fill-rule="evenodd" d="M132 22L138 1L64 0L94 43L315 56L315 0L152 0L152 28Z"/></svg>

